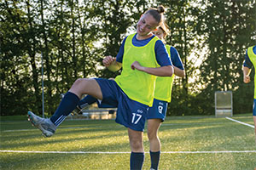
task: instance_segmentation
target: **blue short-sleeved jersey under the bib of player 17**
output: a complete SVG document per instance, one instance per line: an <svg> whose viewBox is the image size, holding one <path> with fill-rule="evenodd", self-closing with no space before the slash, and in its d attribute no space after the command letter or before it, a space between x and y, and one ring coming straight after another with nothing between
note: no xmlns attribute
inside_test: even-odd
<svg viewBox="0 0 256 170"><path fill-rule="evenodd" d="M132 38L132 44L136 47L143 47L147 45L148 42L150 42L150 40L152 40L152 38L155 37L155 36L152 36L144 40L137 40L136 35ZM121 47L119 48L119 53L116 56L116 61L118 61L119 63L122 63L123 61L125 40L126 40L126 37L122 42ZM156 61L160 66L172 65L172 61L169 58L165 48L165 44L162 41L157 40L155 42L154 53L155 53Z"/></svg>

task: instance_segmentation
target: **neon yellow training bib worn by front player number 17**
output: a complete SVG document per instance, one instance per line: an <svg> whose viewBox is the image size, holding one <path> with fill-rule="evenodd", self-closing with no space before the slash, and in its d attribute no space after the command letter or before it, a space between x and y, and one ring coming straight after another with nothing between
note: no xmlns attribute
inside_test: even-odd
<svg viewBox="0 0 256 170"><path fill-rule="evenodd" d="M132 44L134 36L136 34L128 36L125 40L122 61L123 71L115 78L115 82L130 99L152 106L156 77L143 71L132 70L131 64L134 61L138 61L144 67L158 67L154 54L154 45L159 38L154 37L145 46L136 47Z"/></svg>

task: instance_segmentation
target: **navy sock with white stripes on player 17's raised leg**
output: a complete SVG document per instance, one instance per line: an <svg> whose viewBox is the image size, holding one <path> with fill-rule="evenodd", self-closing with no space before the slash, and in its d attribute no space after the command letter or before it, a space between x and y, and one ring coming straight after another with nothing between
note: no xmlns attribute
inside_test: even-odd
<svg viewBox="0 0 256 170"><path fill-rule="evenodd" d="M61 99L61 104L55 111L55 114L50 117L50 121L59 126L61 122L74 110L74 108L79 103L79 97L76 94L67 92L63 99Z"/></svg>

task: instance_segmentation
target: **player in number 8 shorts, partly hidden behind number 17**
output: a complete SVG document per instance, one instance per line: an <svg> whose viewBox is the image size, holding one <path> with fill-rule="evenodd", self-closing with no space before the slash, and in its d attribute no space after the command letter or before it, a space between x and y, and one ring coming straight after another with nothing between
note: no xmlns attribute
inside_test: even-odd
<svg viewBox="0 0 256 170"><path fill-rule="evenodd" d="M156 35L163 42L165 42L168 31L169 29L166 24L162 23L158 30L154 31L154 35ZM183 63L179 57L179 54L177 53L176 48L166 45L166 49L172 60L174 74L177 77L184 77L185 71ZM158 169L158 164L160 161L160 139L157 133L160 128L161 122L164 122L165 120L168 102L171 102L174 74L172 75L172 77L156 78L154 90L154 104L152 107L149 107L148 110L148 139L150 144L150 158L152 169Z"/></svg>

